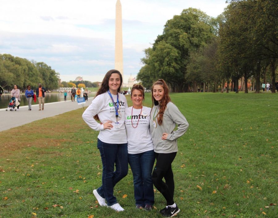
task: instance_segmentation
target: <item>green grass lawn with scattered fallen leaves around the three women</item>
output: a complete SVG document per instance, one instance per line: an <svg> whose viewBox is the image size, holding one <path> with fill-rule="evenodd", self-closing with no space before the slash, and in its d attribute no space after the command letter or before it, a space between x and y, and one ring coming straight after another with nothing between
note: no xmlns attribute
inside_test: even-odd
<svg viewBox="0 0 278 218"><path fill-rule="evenodd" d="M278 94L170 96L190 125L172 164L177 217L277 217ZM145 98L151 106L150 93ZM92 194L102 176L98 132L82 113L0 132L1 218L161 217L158 191L154 210L135 209L131 171L114 189L125 211L98 207Z"/></svg>

